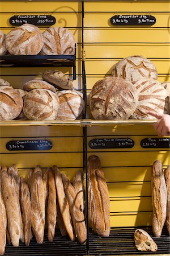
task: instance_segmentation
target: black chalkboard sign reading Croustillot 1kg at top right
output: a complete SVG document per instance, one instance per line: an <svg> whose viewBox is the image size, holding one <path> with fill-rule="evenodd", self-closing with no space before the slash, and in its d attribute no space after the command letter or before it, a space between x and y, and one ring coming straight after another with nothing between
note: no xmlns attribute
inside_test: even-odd
<svg viewBox="0 0 170 256"><path fill-rule="evenodd" d="M156 18L151 15L114 15L111 23L116 26L152 26Z"/></svg>

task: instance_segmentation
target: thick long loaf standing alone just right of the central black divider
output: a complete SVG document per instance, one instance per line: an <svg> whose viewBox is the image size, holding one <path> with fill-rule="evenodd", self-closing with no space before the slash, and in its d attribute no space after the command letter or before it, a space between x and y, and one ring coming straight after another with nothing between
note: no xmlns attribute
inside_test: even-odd
<svg viewBox="0 0 170 256"><path fill-rule="evenodd" d="M109 191L98 156L88 158L87 169L89 225L99 236L108 237L111 230Z"/></svg>

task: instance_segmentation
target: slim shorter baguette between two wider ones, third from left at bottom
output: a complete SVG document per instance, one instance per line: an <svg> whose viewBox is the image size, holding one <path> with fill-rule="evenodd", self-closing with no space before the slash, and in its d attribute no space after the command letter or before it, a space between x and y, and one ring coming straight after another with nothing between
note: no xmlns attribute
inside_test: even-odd
<svg viewBox="0 0 170 256"><path fill-rule="evenodd" d="M24 182L23 177L20 177L20 205L22 209L22 220L24 227L24 242L25 245L28 246L32 238L32 208L28 184Z"/></svg>

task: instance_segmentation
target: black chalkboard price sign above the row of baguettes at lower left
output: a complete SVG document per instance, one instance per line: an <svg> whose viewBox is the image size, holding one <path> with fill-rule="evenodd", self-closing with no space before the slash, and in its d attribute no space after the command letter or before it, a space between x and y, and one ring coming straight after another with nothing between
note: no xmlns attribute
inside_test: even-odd
<svg viewBox="0 0 170 256"><path fill-rule="evenodd" d="M25 141L9 141L6 143L7 150L50 150L53 144L46 139L25 140Z"/></svg>

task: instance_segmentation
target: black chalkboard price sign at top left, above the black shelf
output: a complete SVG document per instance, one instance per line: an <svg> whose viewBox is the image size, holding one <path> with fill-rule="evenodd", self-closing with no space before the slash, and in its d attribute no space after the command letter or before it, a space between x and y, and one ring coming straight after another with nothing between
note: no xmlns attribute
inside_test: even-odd
<svg viewBox="0 0 170 256"><path fill-rule="evenodd" d="M50 15L17 15L10 18L12 26L20 26L26 23L35 26L52 26L56 23L56 18Z"/></svg>

